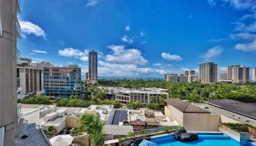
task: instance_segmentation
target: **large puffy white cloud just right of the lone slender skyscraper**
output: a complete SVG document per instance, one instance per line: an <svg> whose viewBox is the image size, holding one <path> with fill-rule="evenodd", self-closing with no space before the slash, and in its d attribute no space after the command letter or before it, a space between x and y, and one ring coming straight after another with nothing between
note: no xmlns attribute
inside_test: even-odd
<svg viewBox="0 0 256 146"><path fill-rule="evenodd" d="M126 49L124 45L110 45L107 47L113 50L113 54L106 55L106 61L127 64L146 64L148 62L143 58L140 50L138 49Z"/></svg>

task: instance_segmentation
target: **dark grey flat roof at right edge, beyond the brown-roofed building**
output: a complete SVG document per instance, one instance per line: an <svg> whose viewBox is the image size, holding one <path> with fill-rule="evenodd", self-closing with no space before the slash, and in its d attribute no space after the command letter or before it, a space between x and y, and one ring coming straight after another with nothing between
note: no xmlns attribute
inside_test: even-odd
<svg viewBox="0 0 256 146"><path fill-rule="evenodd" d="M241 101L234 101L231 99L218 99L206 101L207 104L211 104L215 107L219 107L231 112L236 112L239 115L244 115L256 120L256 106L255 104L248 104Z"/></svg>

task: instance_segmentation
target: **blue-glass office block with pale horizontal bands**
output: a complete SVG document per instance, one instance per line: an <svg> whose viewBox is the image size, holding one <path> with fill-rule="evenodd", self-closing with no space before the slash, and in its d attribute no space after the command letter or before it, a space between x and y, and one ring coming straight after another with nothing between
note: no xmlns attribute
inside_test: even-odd
<svg viewBox="0 0 256 146"><path fill-rule="evenodd" d="M45 96L80 96L82 93L81 69L70 65L45 67L43 72Z"/></svg>

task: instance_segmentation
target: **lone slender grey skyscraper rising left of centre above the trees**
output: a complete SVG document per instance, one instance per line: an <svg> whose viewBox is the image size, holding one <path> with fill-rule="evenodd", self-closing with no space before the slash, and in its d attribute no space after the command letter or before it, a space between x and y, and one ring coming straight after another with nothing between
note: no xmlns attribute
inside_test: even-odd
<svg viewBox="0 0 256 146"><path fill-rule="evenodd" d="M98 54L96 51L89 51L89 76L88 83L91 85L97 84L98 80Z"/></svg>

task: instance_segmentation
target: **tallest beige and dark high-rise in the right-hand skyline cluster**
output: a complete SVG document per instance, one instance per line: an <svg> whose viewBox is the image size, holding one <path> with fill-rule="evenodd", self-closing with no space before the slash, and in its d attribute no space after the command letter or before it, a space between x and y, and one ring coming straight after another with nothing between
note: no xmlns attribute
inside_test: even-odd
<svg viewBox="0 0 256 146"><path fill-rule="evenodd" d="M199 64L200 82L217 82L217 64L206 62Z"/></svg>

